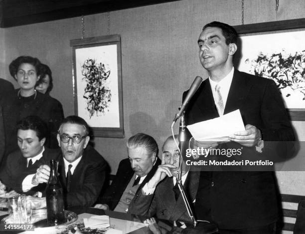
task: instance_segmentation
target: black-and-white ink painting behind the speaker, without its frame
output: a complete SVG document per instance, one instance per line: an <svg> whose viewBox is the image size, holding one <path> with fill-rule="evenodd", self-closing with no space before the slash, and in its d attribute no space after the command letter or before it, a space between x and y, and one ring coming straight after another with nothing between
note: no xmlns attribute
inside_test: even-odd
<svg viewBox="0 0 305 234"><path fill-rule="evenodd" d="M238 69L273 79L286 108L305 109L305 31L241 36Z"/></svg>

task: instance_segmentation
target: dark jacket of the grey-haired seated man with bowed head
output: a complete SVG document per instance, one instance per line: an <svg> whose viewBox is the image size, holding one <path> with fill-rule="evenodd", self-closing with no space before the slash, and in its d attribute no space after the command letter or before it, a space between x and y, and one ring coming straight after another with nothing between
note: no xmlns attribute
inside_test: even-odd
<svg viewBox="0 0 305 234"><path fill-rule="evenodd" d="M156 157L156 162L152 167L152 170L147 174L144 181L139 186L135 197L139 196L143 186L149 182L149 180L154 175L156 169L161 164L161 160ZM110 210L114 210L118 205L128 183L134 175L134 171L131 167L129 159L123 159L120 164L116 174L116 178L111 183L111 186L107 189L104 195L100 197L98 203L107 204Z"/></svg>

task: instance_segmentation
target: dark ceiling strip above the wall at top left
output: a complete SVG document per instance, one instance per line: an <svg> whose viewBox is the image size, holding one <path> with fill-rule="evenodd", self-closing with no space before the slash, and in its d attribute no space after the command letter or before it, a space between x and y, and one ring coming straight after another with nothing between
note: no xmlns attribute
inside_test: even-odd
<svg viewBox="0 0 305 234"><path fill-rule="evenodd" d="M175 0L0 0L0 27L13 27Z"/></svg>

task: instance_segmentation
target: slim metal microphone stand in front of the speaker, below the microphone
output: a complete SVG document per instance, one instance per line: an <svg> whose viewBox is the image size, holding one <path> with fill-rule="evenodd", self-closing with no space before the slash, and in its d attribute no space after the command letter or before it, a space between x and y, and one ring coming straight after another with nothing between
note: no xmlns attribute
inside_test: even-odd
<svg viewBox="0 0 305 234"><path fill-rule="evenodd" d="M178 139L179 139L179 150L180 150L180 153L181 153L181 155L179 157L179 166L182 163L181 160L183 160L183 158L185 158L185 152L186 152L186 149L188 148L185 127L186 127L186 125L185 125L184 111L183 111L183 113L181 114L181 118L180 118L179 137L178 137ZM178 185L178 188L180 190L181 196L183 198L188 216L193 221L193 227L195 228L198 224L198 221L196 220L196 218L194 216L194 212L192 211L190 203L189 203L189 201L186 197L185 190L184 190L183 185L182 185L181 177L182 177L182 170L181 170L181 167L179 167L179 172L178 172L178 175L177 175L177 185Z"/></svg>

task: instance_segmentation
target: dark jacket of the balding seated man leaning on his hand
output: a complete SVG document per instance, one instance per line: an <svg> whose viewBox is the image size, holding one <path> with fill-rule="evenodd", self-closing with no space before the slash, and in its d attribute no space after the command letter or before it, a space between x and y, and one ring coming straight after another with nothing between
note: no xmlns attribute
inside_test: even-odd
<svg viewBox="0 0 305 234"><path fill-rule="evenodd" d="M199 174L199 172L189 172L183 186L191 206L196 197ZM172 178L166 177L156 186L154 194L141 193L139 197L136 197L128 212L148 217L156 216L158 219L164 220L192 222L182 196L179 195L178 200L175 201L173 186Z"/></svg>

